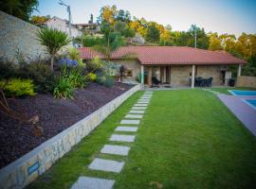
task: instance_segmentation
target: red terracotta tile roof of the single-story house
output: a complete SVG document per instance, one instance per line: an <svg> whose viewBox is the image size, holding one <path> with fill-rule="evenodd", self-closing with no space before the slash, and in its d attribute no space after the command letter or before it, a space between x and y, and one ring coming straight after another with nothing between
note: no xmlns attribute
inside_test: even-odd
<svg viewBox="0 0 256 189"><path fill-rule="evenodd" d="M91 49L79 49L83 60L91 60L95 56L104 56ZM186 46L121 46L112 53L111 59L123 59L135 54L141 64L239 64L247 63L223 51L210 51Z"/></svg>

